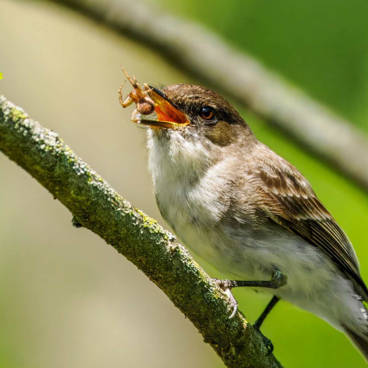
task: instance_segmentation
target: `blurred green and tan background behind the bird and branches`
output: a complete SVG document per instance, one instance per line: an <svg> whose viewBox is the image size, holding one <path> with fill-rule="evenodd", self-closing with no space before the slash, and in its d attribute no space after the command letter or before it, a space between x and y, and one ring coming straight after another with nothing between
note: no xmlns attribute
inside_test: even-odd
<svg viewBox="0 0 368 368"><path fill-rule="evenodd" d="M201 22L368 131L366 1L156 4ZM0 40L0 94L167 227L152 196L144 132L130 122L133 108L118 103L120 65L141 83L199 82L165 55L53 3L1 0ZM367 196L236 107L259 140L308 178L350 237L368 281ZM223 367L162 291L97 236L72 227L70 213L3 155L0 178L0 367ZM268 301L234 294L251 322ZM286 302L262 332L285 367L366 367L344 335Z"/></svg>

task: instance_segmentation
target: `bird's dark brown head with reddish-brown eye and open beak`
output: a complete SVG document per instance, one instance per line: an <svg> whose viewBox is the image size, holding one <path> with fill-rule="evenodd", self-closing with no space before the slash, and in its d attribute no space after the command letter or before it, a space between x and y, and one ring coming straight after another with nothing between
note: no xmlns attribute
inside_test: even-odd
<svg viewBox="0 0 368 368"><path fill-rule="evenodd" d="M153 135L163 139L194 139L212 149L249 144L254 139L236 109L209 89L173 84L153 88L151 95L155 113L152 117L138 116L136 120L150 126Z"/></svg>

